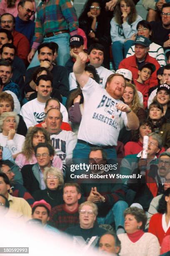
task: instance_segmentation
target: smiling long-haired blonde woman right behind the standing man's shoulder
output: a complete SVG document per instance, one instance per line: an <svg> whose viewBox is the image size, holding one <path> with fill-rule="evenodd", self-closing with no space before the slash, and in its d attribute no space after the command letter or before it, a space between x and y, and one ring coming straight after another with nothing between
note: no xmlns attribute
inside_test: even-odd
<svg viewBox="0 0 170 256"><path fill-rule="evenodd" d="M139 120L145 119L145 110L140 105L140 100L135 85L126 82L126 87L122 98L125 104L127 104L131 108L131 110L133 110L133 112L138 116ZM131 136L132 132L127 131L124 127L120 131L118 141L121 141L125 144L128 141L131 141Z"/></svg>

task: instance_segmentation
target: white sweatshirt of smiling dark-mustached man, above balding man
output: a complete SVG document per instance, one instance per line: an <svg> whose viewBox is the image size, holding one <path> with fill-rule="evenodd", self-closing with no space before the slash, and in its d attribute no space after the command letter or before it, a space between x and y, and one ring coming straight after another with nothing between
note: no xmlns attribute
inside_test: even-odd
<svg viewBox="0 0 170 256"><path fill-rule="evenodd" d="M63 115L63 122L68 123L68 113L64 105L60 103L60 111ZM44 121L45 118L45 103L39 102L36 99L30 100L29 102L25 103L21 108L20 115L23 116L23 119L27 125L27 128L30 126L35 126L38 123Z"/></svg>

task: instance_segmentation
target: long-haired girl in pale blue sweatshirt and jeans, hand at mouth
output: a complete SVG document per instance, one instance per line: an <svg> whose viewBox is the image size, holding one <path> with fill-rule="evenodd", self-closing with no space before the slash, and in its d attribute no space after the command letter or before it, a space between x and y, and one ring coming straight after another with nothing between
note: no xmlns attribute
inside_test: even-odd
<svg viewBox="0 0 170 256"><path fill-rule="evenodd" d="M133 45L137 33L136 26L140 20L142 18L137 14L133 0L118 0L115 16L110 22L115 70Z"/></svg>

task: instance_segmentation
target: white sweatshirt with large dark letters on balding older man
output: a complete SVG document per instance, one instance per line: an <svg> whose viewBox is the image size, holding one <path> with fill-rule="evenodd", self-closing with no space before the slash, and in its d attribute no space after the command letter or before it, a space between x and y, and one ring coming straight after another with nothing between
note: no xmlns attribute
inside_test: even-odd
<svg viewBox="0 0 170 256"><path fill-rule="evenodd" d="M65 159L72 159L72 151L75 148L77 137L72 131L60 130L58 133L50 135L55 154L60 157L62 163Z"/></svg>

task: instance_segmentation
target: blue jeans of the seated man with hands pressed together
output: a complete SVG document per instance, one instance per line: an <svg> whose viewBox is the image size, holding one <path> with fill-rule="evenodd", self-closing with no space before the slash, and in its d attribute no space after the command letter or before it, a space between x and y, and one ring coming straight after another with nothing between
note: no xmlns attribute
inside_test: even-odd
<svg viewBox="0 0 170 256"><path fill-rule="evenodd" d="M107 213L105 217L97 217L97 223L100 224L112 224L115 222L115 228L124 227L124 210L128 208L128 204L125 201L117 201L112 209Z"/></svg>

